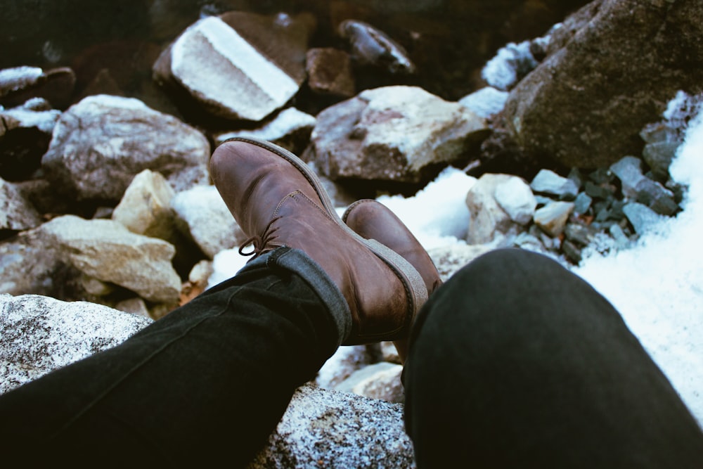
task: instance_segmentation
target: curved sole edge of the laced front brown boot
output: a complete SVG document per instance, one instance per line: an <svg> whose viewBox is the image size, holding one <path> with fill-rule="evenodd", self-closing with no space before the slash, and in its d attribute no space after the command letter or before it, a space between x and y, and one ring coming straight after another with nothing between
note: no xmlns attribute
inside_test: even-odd
<svg viewBox="0 0 703 469"><path fill-rule="evenodd" d="M401 330L406 330L410 331L410 328L413 324L413 321L415 320L415 316L417 316L418 311L420 311L420 308L423 307L423 304L427 301L427 287L425 286L425 281L423 280L422 276L420 276L420 272L418 272L417 269L404 257L401 257L398 253L396 253L394 250L388 248L386 245L382 245L376 240L373 239L365 239L356 234L354 230L349 228L347 224L342 221L340 216L337 214L337 210L335 210L335 207L332 203L332 200L330 199L330 196L328 195L327 191L325 191L325 188L323 187L320 179L318 179L317 175L310 169L310 167L300 158L298 158L296 155L293 155L290 153L290 151L286 150L285 148L281 148L280 146L271 143L269 141L264 141L264 140L259 140L259 139L254 139L252 137L233 137L232 139L227 139L226 141L222 142L222 144L227 143L228 141L242 141L245 143L251 143L252 145L259 146L261 148L264 148L265 150L269 150L271 153L274 153L275 155L280 156L280 158L283 158L284 160L290 162L295 169L297 169L304 177L307 179L307 181L310 183L310 185L314 188L315 192L318 195L318 198L320 198L323 209L325 212L328 213L331 219L337 223L337 225L340 226L341 229L343 229L345 232L349 234L349 236L352 236L354 240L357 242L361 243L362 245L365 245L366 248L368 248L373 254L381 259L389 268L396 274L396 276L399 278L401 283L403 283L406 294L408 299L410 300L411 304L408 306L408 319L406 319L406 323L404 324L403 327L399 328L399 330L394 330L394 331L389 331L387 333L384 333L382 335L366 335L366 336L359 336L356 338L349 338L354 342L354 344L359 344L359 343L365 343L365 342L376 342L378 340L397 340L399 338L393 337L394 334L399 333ZM344 342L344 345L353 345L352 342Z"/></svg>

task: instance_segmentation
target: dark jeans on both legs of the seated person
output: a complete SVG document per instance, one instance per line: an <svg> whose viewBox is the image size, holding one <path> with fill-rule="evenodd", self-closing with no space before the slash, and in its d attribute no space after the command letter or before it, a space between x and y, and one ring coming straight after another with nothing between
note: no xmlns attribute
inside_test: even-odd
<svg viewBox="0 0 703 469"><path fill-rule="evenodd" d="M0 457L30 442L25 463L94 453L119 465L134 452L243 466L342 341L340 297L280 248L122 345L0 397ZM405 378L421 468L703 461L695 420L617 311L529 252L485 255L433 295Z"/></svg>

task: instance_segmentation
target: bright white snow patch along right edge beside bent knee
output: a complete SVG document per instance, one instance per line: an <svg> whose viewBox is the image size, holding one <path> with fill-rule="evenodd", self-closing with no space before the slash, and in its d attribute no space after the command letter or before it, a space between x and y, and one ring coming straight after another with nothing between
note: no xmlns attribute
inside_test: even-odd
<svg viewBox="0 0 703 469"><path fill-rule="evenodd" d="M683 212L651 226L631 249L593 255L574 271L620 311L703 423L703 115L690 125L671 176L688 185Z"/></svg>

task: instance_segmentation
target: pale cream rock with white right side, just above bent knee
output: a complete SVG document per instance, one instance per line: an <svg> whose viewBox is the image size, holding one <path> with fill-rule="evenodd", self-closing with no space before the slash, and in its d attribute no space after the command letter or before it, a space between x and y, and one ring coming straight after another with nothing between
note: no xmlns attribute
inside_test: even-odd
<svg viewBox="0 0 703 469"><path fill-rule="evenodd" d="M470 188L466 195L466 206L469 208L470 216L469 228L466 233L467 243L491 243L500 241L505 235L517 234L520 224L523 223L514 221L510 214L503 210L501 203L496 200L496 193L502 193L499 187L504 184L512 184L514 178L515 176L510 176L509 174L484 174ZM508 195L503 195L503 200L507 202ZM506 205L508 204L506 203ZM522 204L512 203L510 205L516 207ZM532 207L532 211L537 205L531 192L527 200L525 200L525 205L526 208ZM520 213L518 213L518 210L514 212L521 221L524 214L527 214L525 210L520 211Z"/></svg>

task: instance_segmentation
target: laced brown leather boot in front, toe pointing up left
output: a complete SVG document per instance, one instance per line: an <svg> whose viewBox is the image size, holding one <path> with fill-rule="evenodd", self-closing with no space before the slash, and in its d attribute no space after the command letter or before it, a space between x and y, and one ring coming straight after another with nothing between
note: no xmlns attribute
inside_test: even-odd
<svg viewBox="0 0 703 469"><path fill-rule="evenodd" d="M251 236L254 255L297 248L337 285L352 313L343 345L407 337L427 300L422 277L389 248L349 229L302 160L272 143L237 138L214 151L210 174Z"/></svg>

